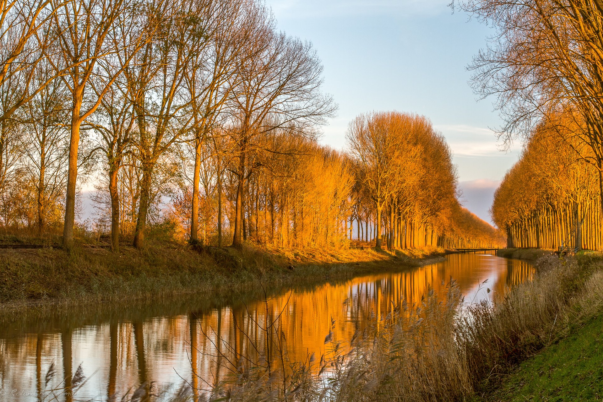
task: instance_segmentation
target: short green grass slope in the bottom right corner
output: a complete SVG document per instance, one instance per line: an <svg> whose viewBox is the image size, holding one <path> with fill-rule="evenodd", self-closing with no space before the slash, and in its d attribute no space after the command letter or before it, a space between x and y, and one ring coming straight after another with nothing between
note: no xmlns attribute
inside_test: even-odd
<svg viewBox="0 0 603 402"><path fill-rule="evenodd" d="M603 316L521 363L481 400L603 400Z"/></svg>

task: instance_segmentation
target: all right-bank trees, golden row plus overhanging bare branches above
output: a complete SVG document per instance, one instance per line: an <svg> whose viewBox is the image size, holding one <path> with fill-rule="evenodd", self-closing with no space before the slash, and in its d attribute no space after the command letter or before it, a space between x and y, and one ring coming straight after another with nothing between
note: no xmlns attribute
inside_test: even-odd
<svg viewBox="0 0 603 402"><path fill-rule="evenodd" d="M494 221L517 247L601 250L603 3L471 0L459 7L496 30L471 66L473 87L496 97L507 145L525 142L497 191Z"/></svg>

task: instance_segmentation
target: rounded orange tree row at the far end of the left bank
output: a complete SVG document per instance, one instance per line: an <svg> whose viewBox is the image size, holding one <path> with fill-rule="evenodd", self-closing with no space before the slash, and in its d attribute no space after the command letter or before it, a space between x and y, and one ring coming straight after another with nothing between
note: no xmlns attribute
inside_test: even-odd
<svg viewBox="0 0 603 402"><path fill-rule="evenodd" d="M424 116L396 111L358 116L347 133L355 172L353 219L376 247L497 247L499 234L457 200L456 168L444 137Z"/></svg>

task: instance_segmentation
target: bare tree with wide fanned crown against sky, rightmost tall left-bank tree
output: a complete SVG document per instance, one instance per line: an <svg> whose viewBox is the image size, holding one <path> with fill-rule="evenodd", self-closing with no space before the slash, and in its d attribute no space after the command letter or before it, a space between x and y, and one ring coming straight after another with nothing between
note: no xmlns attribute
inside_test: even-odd
<svg viewBox="0 0 603 402"><path fill-rule="evenodd" d="M323 68L311 44L277 33L262 8L245 54L238 60L233 81L236 111L229 130L236 143L238 166L233 246L242 245L244 190L253 172L253 140L276 130L315 136L314 126L335 112L330 96L320 93Z"/></svg>

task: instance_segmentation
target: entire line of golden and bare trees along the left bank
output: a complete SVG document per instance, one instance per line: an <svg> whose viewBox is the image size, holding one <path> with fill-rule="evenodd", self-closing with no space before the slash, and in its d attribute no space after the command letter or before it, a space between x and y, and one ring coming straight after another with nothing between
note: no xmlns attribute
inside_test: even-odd
<svg viewBox="0 0 603 402"><path fill-rule="evenodd" d="M121 237L143 248L150 235L338 246L353 222L377 248L382 236L389 248L497 241L459 206L450 151L426 118L359 116L349 152L318 145L336 110L320 60L262 2L0 4L5 228L62 227L72 247L93 186L94 224L116 252ZM372 156L355 140L367 127L387 137Z"/></svg>

